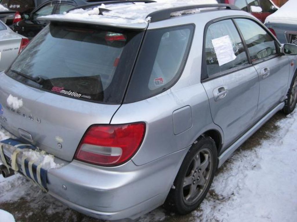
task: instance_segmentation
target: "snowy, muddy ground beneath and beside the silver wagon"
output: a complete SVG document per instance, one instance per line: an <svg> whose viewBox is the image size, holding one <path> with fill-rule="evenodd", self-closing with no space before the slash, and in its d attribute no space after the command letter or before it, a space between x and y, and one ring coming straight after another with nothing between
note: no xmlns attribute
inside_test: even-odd
<svg viewBox="0 0 297 222"><path fill-rule="evenodd" d="M195 212L179 216L159 207L138 222L296 222L296 160L297 112L287 117L278 113L218 170ZM67 208L19 175L0 176L0 208L16 221L98 221Z"/></svg>

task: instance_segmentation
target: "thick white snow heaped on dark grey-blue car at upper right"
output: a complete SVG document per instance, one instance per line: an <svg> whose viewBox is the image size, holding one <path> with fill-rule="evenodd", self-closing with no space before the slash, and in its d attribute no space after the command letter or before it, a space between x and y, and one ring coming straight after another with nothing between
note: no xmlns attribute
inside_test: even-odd
<svg viewBox="0 0 297 222"><path fill-rule="evenodd" d="M297 1L289 0L286 4L280 7L276 12L269 15L265 23L287 23L297 25L297 13L296 13Z"/></svg>

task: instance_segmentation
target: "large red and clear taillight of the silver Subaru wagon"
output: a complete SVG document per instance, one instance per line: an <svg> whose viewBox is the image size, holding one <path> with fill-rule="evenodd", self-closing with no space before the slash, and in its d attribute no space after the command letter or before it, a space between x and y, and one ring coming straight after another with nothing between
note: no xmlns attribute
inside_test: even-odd
<svg viewBox="0 0 297 222"><path fill-rule="evenodd" d="M145 130L145 123L91 126L83 136L74 158L102 166L120 165L137 152Z"/></svg>

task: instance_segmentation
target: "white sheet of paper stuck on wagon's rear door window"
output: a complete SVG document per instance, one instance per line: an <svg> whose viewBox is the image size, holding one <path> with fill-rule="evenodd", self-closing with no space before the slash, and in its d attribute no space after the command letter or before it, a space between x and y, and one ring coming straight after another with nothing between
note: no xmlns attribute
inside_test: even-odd
<svg viewBox="0 0 297 222"><path fill-rule="evenodd" d="M232 43L229 36L223 36L211 40L216 52L219 66L222 66L228 62L236 59L236 55L233 52Z"/></svg>

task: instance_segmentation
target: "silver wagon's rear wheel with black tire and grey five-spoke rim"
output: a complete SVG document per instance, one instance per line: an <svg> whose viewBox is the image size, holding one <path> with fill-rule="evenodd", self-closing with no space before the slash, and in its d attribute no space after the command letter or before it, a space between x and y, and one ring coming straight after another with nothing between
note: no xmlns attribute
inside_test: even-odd
<svg viewBox="0 0 297 222"><path fill-rule="evenodd" d="M203 135L185 156L173 183L175 189L170 190L164 204L165 208L178 214L187 214L195 210L205 198L216 168L216 144L211 137ZM203 181L205 184L200 185Z"/></svg>

